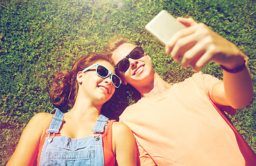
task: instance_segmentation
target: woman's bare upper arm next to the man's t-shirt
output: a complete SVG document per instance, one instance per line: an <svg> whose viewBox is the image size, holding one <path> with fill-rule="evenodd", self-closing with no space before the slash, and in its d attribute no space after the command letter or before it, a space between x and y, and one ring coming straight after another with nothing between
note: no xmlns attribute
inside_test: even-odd
<svg viewBox="0 0 256 166"><path fill-rule="evenodd" d="M118 165L137 165L137 148L131 129L122 122L113 123L113 152Z"/></svg>

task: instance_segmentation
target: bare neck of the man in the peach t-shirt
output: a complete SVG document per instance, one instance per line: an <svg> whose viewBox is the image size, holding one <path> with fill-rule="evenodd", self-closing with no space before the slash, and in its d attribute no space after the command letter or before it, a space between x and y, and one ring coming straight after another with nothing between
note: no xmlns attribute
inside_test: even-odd
<svg viewBox="0 0 256 166"><path fill-rule="evenodd" d="M149 98L167 91L171 86L155 72L152 81L147 84L138 84L134 88L140 92L143 98Z"/></svg>

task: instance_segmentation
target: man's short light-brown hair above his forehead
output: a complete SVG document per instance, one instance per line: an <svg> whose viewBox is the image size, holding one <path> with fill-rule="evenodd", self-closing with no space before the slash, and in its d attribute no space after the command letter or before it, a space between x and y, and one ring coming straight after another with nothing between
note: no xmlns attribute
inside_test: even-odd
<svg viewBox="0 0 256 166"><path fill-rule="evenodd" d="M113 51L115 51L119 46L125 43L130 44L131 42L127 37L123 37L122 35L110 39L104 49L104 55L107 55L107 57L111 58L111 56L113 55Z"/></svg>

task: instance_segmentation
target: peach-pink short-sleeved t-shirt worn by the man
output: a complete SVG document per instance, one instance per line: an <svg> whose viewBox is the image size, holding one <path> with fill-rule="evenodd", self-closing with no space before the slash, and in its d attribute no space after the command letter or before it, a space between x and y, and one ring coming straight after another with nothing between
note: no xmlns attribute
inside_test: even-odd
<svg viewBox="0 0 256 166"><path fill-rule="evenodd" d="M241 166L256 162L255 154L245 160L237 141L239 133L210 101L217 82L216 77L196 73L165 93L142 98L125 109L120 121L134 132L141 165Z"/></svg>

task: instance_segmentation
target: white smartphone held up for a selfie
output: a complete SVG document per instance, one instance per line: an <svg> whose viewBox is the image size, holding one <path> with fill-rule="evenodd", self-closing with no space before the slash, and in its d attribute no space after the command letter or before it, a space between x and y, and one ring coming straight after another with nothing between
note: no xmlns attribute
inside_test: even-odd
<svg viewBox="0 0 256 166"><path fill-rule="evenodd" d="M169 12L162 10L145 28L160 42L166 45L176 32L186 27L177 21Z"/></svg>

